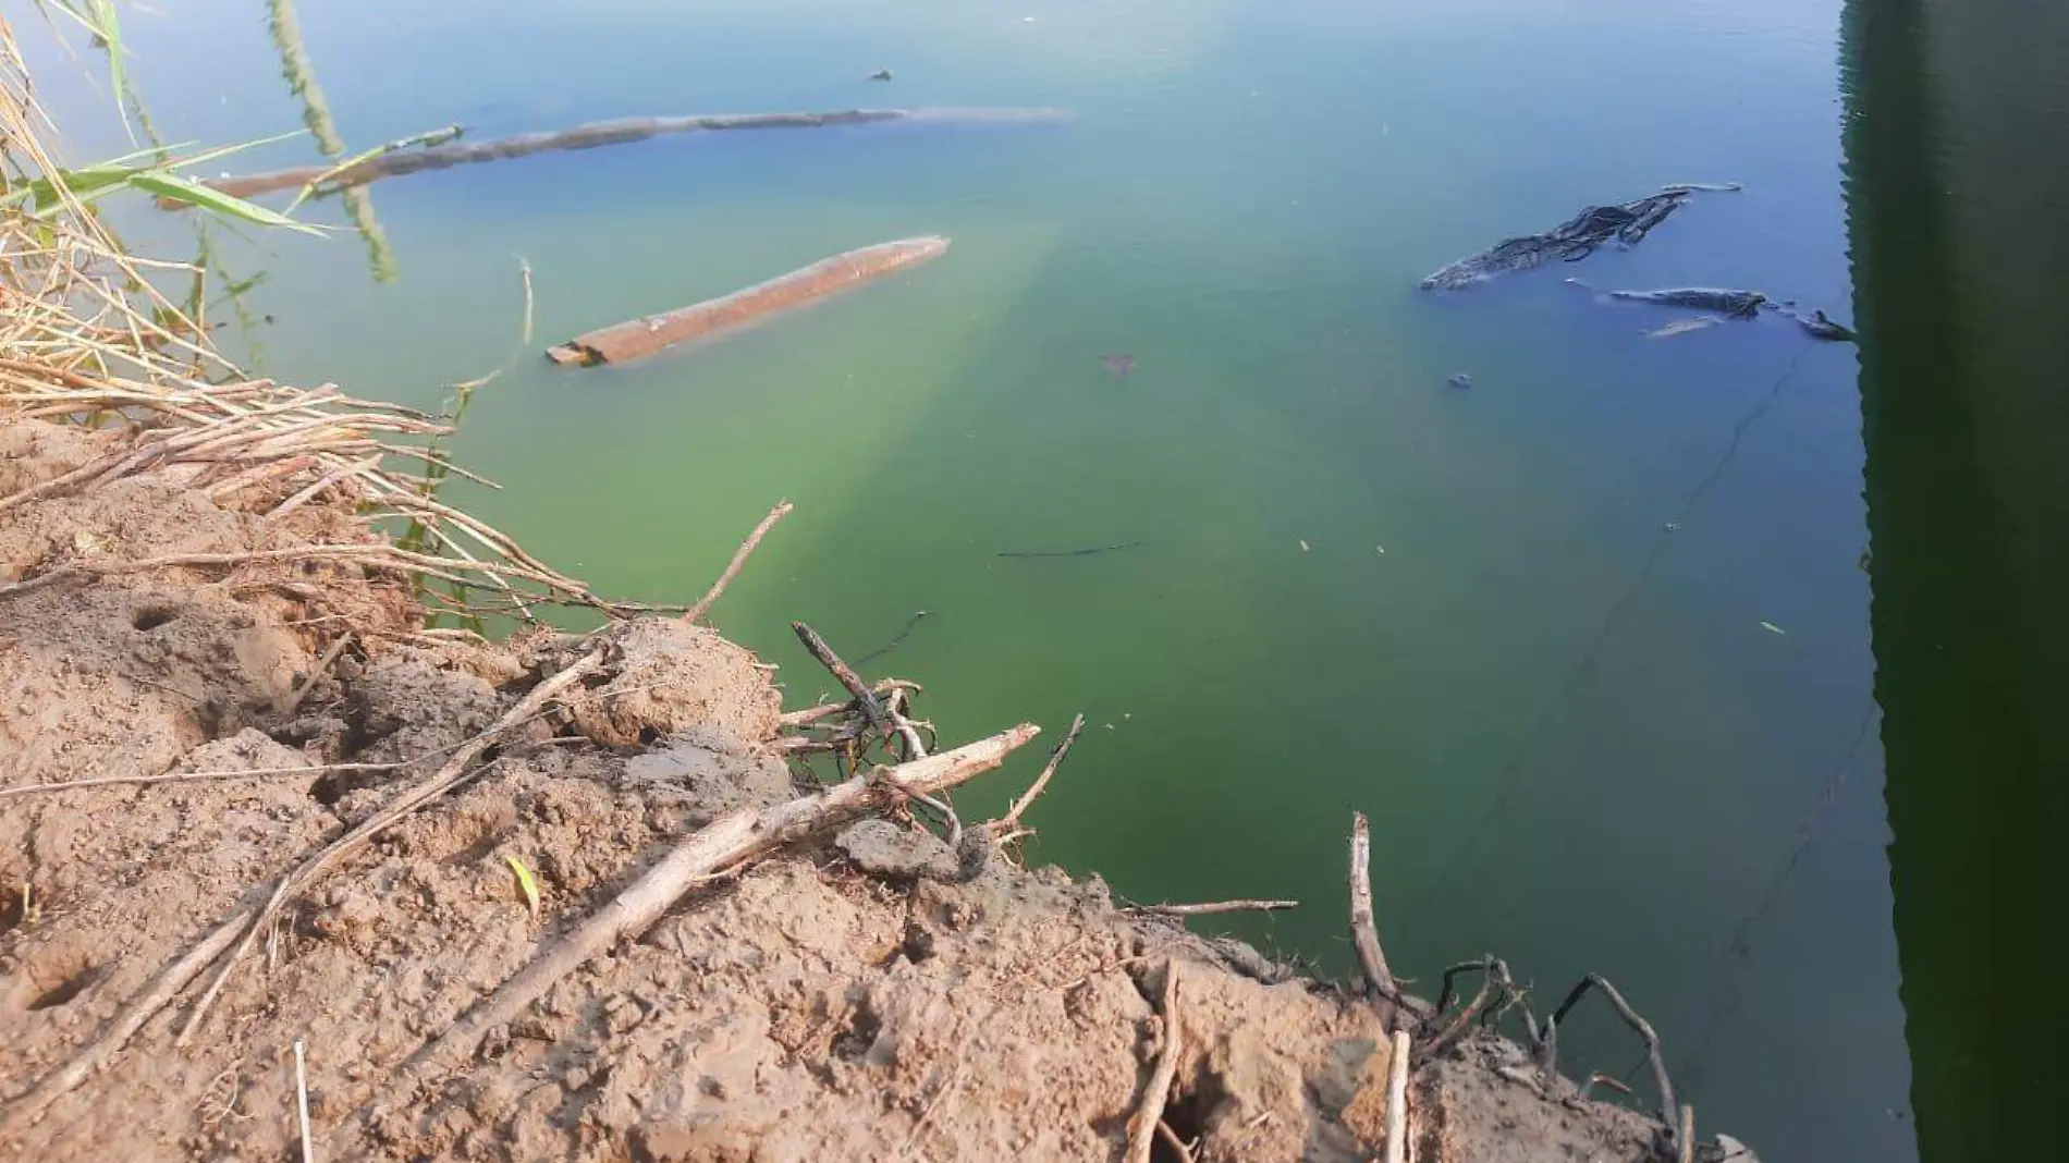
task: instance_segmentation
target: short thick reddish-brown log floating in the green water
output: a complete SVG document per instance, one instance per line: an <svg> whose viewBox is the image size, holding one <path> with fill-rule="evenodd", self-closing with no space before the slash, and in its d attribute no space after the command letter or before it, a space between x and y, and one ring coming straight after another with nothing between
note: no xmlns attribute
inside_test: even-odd
<svg viewBox="0 0 2069 1163"><path fill-rule="evenodd" d="M716 339L770 315L817 302L830 294L859 288L892 271L937 259L948 250L948 238L937 234L877 242L846 255L821 259L809 267L778 275L766 284L710 298L666 315L648 315L577 335L567 344L546 348L546 358L561 366L623 364L652 356L691 339Z"/></svg>

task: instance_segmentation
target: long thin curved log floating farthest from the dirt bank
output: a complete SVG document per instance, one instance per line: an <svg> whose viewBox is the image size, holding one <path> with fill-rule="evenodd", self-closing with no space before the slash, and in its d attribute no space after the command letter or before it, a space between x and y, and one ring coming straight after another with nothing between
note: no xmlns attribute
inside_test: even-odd
<svg viewBox="0 0 2069 1163"><path fill-rule="evenodd" d="M1020 110L1020 108L974 108L974 110L830 110L819 114L708 114L689 118L619 118L608 122L588 122L552 132L521 132L494 141L453 141L428 149L395 149L354 161L350 166L296 166L294 170L271 170L265 174L244 174L213 178L207 184L240 199L273 190L300 190L321 180L319 192L333 192L348 186L364 186L381 178L399 178L420 170L445 170L449 166L470 166L474 161L501 161L503 157L526 157L557 149L596 149L598 145L623 145L672 132L720 132L734 128L819 128L873 122L1049 122L1063 120L1063 110ZM184 203L159 201L159 209L176 209Z"/></svg>

